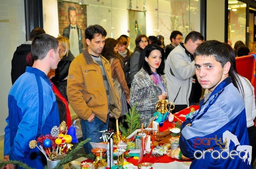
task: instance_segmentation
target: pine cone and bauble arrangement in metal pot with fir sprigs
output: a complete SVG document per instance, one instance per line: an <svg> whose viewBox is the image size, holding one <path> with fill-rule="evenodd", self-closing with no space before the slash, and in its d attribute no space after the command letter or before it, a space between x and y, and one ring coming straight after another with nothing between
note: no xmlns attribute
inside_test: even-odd
<svg viewBox="0 0 256 169"><path fill-rule="evenodd" d="M70 135L66 135L66 133L66 122L63 121L59 127L54 126L50 134L46 134L44 136L41 135L37 140L31 140L29 142L30 148L37 147L46 157L47 164L49 164L49 166L45 166L44 169L63 169L63 165L72 161L74 154L80 150L84 144L91 140L90 138L87 138L86 140L80 141L79 144L71 150L72 145L70 142L73 138ZM0 168L7 164L15 164L21 168L32 169L21 161L12 160L1 162Z"/></svg>

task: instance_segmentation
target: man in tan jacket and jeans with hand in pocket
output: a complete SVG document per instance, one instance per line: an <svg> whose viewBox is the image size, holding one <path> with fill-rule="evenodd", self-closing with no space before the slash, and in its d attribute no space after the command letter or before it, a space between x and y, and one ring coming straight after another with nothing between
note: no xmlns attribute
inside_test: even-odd
<svg viewBox="0 0 256 169"><path fill-rule="evenodd" d="M108 127L108 116L116 119L121 114L121 103L114 91L111 67L100 55L107 32L100 25L90 25L85 30L88 47L70 64L67 95L75 113L81 118L83 139L101 142L102 133ZM84 145L91 152L91 145Z"/></svg>

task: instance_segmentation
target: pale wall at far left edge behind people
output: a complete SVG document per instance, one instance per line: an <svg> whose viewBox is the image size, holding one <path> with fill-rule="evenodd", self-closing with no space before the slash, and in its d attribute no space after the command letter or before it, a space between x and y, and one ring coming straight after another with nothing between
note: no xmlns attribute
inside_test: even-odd
<svg viewBox="0 0 256 169"><path fill-rule="evenodd" d="M0 140L4 136L5 119L8 116L7 98L12 86L11 59L17 46L26 41L24 1L1 0L0 4Z"/></svg>

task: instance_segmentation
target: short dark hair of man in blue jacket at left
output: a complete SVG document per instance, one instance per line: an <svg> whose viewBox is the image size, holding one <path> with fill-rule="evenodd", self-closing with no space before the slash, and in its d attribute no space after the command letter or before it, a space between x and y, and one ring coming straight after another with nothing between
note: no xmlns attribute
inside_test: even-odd
<svg viewBox="0 0 256 169"><path fill-rule="evenodd" d="M54 49L54 52L57 53L58 40L48 34L41 34L34 37L34 40L31 44L31 53L33 60L42 60L46 57L50 49Z"/></svg>

